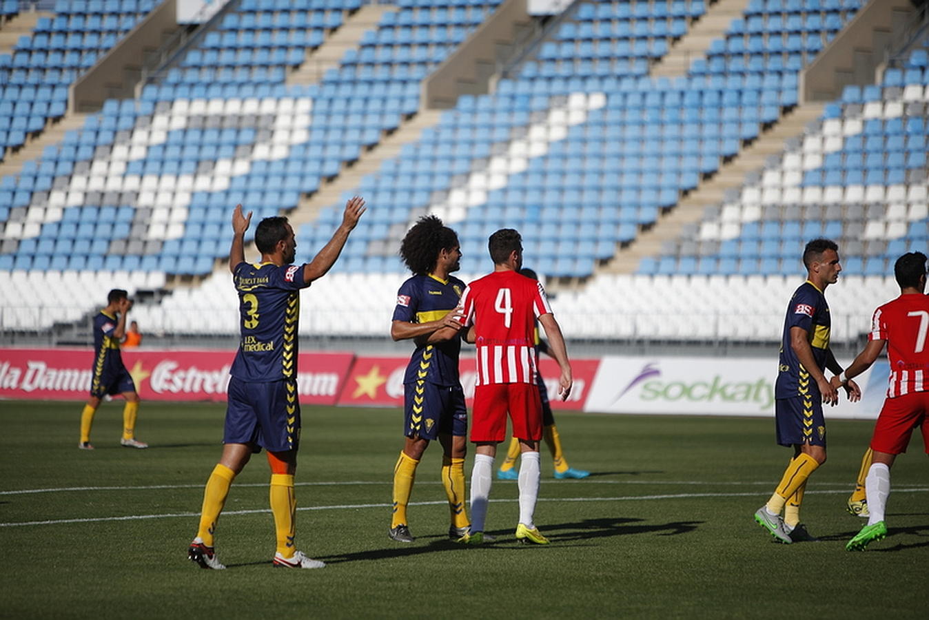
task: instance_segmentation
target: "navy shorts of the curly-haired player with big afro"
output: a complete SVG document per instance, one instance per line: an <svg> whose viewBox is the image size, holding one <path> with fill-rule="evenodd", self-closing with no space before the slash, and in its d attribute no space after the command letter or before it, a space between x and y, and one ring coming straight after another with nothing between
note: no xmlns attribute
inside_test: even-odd
<svg viewBox="0 0 929 620"><path fill-rule="evenodd" d="M467 435L467 407L460 385L417 381L403 385L403 434L434 441L438 433Z"/></svg>

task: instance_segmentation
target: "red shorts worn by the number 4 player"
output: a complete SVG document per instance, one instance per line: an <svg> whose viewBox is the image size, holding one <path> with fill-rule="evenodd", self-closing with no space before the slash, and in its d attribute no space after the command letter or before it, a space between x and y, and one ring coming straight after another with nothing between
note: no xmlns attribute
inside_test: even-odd
<svg viewBox="0 0 929 620"><path fill-rule="evenodd" d="M492 383L474 390L471 441L502 442L506 438L506 413L519 439L542 439L542 398L535 383Z"/></svg>

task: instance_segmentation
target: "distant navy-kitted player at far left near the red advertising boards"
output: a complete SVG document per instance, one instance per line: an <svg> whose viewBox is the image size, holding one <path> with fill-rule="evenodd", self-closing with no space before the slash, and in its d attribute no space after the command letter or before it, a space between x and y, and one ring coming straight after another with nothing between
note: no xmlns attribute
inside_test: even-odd
<svg viewBox="0 0 929 620"><path fill-rule="evenodd" d="M136 439L138 394L132 375L125 369L119 343L125 335L125 316L132 308L128 294L122 289L113 289L107 294L107 307L94 316L94 367L90 381L90 397L81 412L81 440L77 446L82 450L93 450L90 443L90 428L100 401L106 395L123 394L123 438L120 444L126 447L149 447Z"/></svg>

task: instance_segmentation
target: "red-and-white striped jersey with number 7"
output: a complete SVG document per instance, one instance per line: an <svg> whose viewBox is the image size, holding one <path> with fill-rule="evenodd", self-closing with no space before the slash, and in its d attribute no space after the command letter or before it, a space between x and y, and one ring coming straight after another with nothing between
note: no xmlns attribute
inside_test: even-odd
<svg viewBox="0 0 929 620"><path fill-rule="evenodd" d="M871 317L868 340L887 341L887 397L929 391L929 297L900 295Z"/></svg>

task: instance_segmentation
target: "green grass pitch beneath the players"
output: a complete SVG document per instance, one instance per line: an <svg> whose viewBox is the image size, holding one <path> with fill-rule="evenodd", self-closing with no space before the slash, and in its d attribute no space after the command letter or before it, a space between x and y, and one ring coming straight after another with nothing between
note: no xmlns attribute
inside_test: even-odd
<svg viewBox="0 0 929 620"><path fill-rule="evenodd" d="M929 601L918 437L892 472L890 535L844 550L864 523L844 502L870 422L830 421L830 459L803 510L822 541L786 546L752 521L790 457L771 420L562 413L570 464L594 473L554 480L543 447L536 523L552 545L517 545L517 484L494 481L498 542L463 549L446 539L438 446L417 471L416 541L386 536L398 410L304 407L297 543L328 566L271 568L260 455L233 484L216 543L229 570L216 572L186 549L223 407L143 403L138 436L151 447L136 450L119 446L122 403L105 404L93 452L76 447L80 410L0 402L2 617L922 618Z"/></svg>

